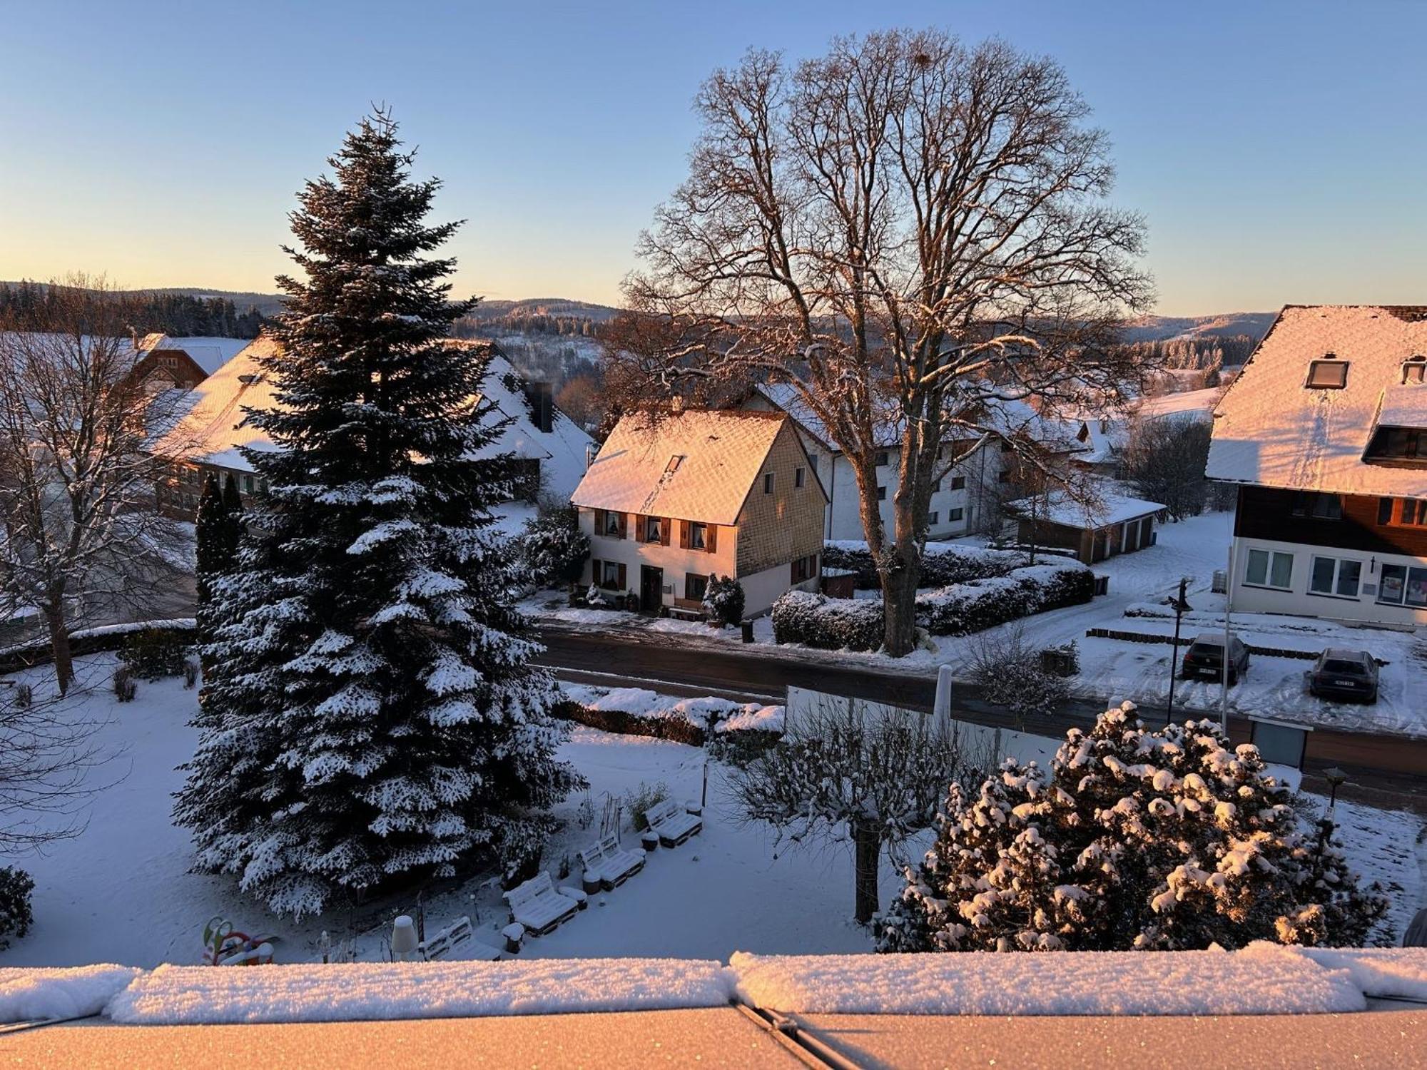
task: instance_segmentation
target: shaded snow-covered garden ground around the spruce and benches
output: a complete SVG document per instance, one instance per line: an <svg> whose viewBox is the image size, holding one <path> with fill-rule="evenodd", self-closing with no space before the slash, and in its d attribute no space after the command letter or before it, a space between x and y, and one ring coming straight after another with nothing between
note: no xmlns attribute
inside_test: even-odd
<svg viewBox="0 0 1427 1070"><path fill-rule="evenodd" d="M0 952L0 966L77 966L110 962L130 966L194 963L200 933L214 914L238 929L275 933L280 962L311 962L323 929L337 942L348 936L351 919L334 912L294 924L265 916L243 899L224 877L188 872L188 833L170 822L171 793L183 782L177 766L193 752L187 726L197 692L181 681L140 683L133 703L118 705L107 691L111 655L81 658L81 682L91 688L73 699L74 716L104 720L97 742L110 760L94 769L97 793L86 806L88 825L40 856L4 857L34 880L36 924L30 934ZM39 686L47 679L34 672ZM577 692L585 698L595 692ZM648 709L679 700L652 699L644 692L619 695ZM696 705L696 703L695 703ZM575 728L562 756L591 782L598 815L606 798L624 799L642 786L662 783L676 800L698 799L708 768L708 807L702 835L674 850L651 853L644 872L615 892L591 897L588 910L555 933L529 940L522 957L655 956L726 960L736 950L762 954L860 953L870 950L868 933L850 919L852 860L843 850L781 849L772 835L743 826L721 790L721 766L699 748L656 739L616 736ZM592 837L579 829L582 799L561 807L565 832L552 842L544 863L572 867L564 883L578 886L577 852ZM1394 922L1398 930L1423 902L1416 839L1421 820L1406 813L1339 803L1344 842L1354 862L1386 885L1396 885ZM598 816L595 819L598 822ZM632 833L625 825L625 840ZM920 847L913 849L913 853ZM899 886L892 866L883 865L883 902ZM380 959L390 917L412 903L382 905L382 923L357 933L364 959ZM430 929L461 914L477 920L485 947L501 943L507 916L499 890L489 880L427 902ZM362 917L371 917L367 912ZM472 957L484 949L471 949Z"/></svg>

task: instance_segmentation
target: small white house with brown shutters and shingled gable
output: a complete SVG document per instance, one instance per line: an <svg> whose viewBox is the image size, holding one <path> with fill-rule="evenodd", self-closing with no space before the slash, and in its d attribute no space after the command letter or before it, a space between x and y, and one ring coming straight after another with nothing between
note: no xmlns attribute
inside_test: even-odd
<svg viewBox="0 0 1427 1070"><path fill-rule="evenodd" d="M746 616L818 588L828 495L782 412L626 415L571 501L591 542L585 584L645 611L701 612L711 575L742 584Z"/></svg>

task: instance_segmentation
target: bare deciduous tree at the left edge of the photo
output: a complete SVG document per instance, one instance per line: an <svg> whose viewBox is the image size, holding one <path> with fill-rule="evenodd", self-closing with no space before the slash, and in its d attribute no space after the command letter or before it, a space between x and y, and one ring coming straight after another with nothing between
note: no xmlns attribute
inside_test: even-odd
<svg viewBox="0 0 1427 1070"><path fill-rule="evenodd" d="M148 437L180 401L136 374L134 311L71 277L0 322L0 618L40 613L61 693L70 629L150 599L191 552L154 508Z"/></svg>

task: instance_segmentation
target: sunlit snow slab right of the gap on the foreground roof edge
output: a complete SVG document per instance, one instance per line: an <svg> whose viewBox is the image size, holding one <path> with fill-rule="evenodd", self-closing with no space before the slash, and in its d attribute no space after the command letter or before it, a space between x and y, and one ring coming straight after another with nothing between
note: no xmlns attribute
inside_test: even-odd
<svg viewBox="0 0 1427 1070"><path fill-rule="evenodd" d="M1421 959L1427 964L1427 953ZM1274 944L1241 952L758 956L739 996L806 1014L1314 1014L1364 1010L1347 970Z"/></svg>

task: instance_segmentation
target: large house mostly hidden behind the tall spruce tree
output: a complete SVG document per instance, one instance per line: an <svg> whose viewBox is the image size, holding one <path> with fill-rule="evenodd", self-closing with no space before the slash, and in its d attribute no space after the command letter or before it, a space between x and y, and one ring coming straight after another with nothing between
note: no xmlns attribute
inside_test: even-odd
<svg viewBox="0 0 1427 1070"><path fill-rule="evenodd" d="M551 401L548 384L519 379L505 357L487 341L455 341L450 345L491 348L482 397L509 422L482 454L509 454L524 471L521 496L565 501L585 468L594 439ZM277 342L258 338L193 388L174 427L154 444L154 452L170 458L173 475L158 486L158 504L173 515L191 518L208 472L220 482L233 475L244 504L263 491L261 478L243 457L243 449L275 449L251 421L247 409L271 408L273 385L258 367L258 357L277 352Z"/></svg>

